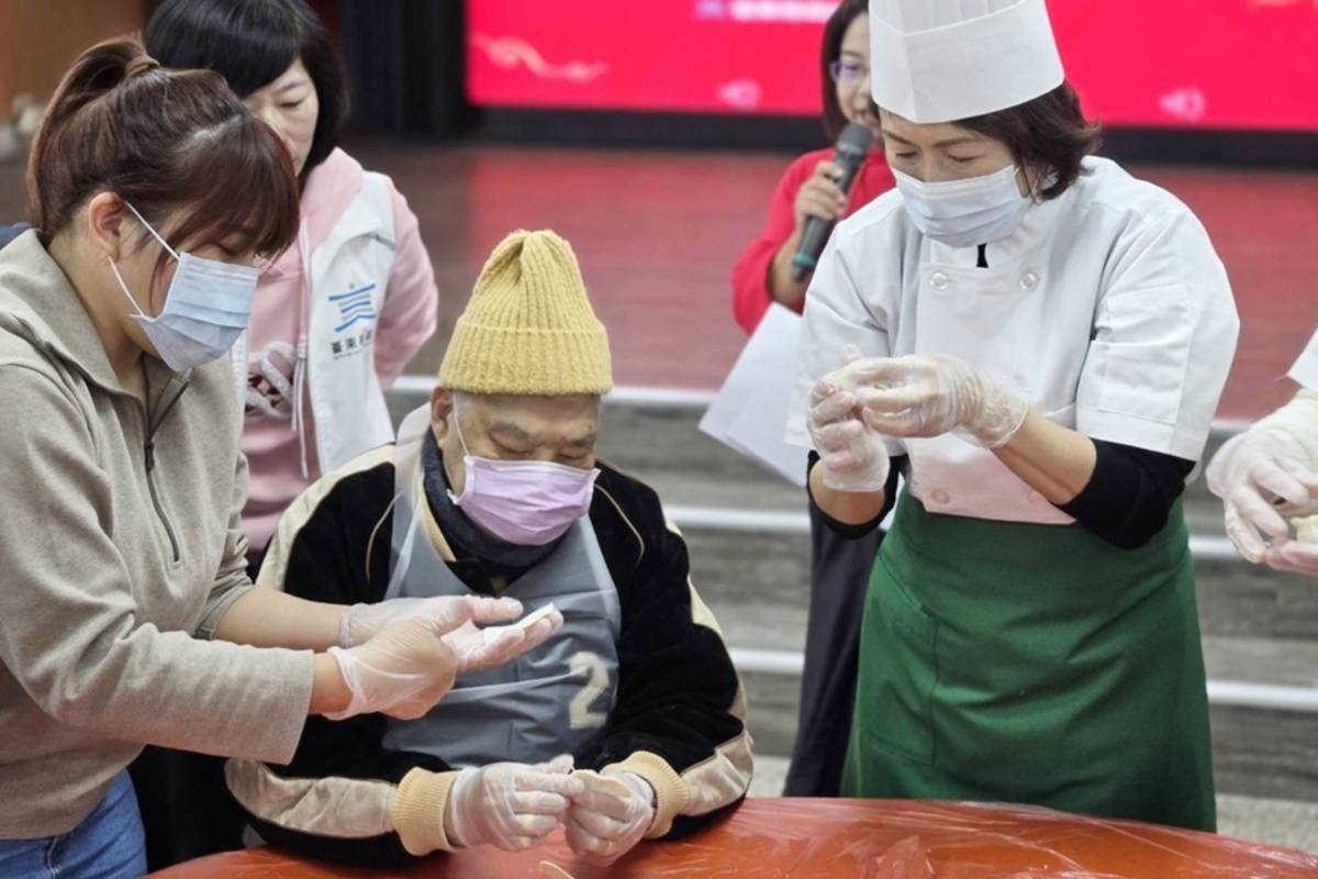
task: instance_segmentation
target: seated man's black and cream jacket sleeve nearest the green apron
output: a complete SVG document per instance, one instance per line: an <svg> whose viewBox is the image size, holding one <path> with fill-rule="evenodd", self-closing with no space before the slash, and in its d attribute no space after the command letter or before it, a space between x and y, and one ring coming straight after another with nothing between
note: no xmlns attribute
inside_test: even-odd
<svg viewBox="0 0 1318 879"><path fill-rule="evenodd" d="M606 726L575 756L577 766L593 770L625 763L638 751L660 758L689 801L704 805L702 814L672 816L664 837L675 838L739 801L750 784L741 681L691 582L687 544L668 527L659 498L609 472L597 490L617 502L612 514L597 505L605 509L592 510L592 525L622 605L618 693ZM658 785L656 793L662 800ZM710 810L710 804L718 808Z"/></svg>

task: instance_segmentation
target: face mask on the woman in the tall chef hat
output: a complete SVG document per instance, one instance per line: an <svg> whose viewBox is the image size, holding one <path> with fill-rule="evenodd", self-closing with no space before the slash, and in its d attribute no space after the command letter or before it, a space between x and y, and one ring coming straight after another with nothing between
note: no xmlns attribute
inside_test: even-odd
<svg viewBox="0 0 1318 879"><path fill-rule="evenodd" d="M902 203L915 227L934 241L969 248L1006 239L1031 204L1020 194L1016 166L963 181L924 183L892 169Z"/></svg>

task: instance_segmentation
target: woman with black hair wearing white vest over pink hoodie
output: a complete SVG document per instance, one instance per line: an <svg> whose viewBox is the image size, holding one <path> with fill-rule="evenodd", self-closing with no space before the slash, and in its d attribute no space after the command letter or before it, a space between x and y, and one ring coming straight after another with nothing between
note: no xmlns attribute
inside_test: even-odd
<svg viewBox="0 0 1318 879"><path fill-rule="evenodd" d="M302 187L298 241L265 269L252 328L233 348L256 579L293 499L394 439L382 389L435 332L439 293L407 202L336 148L347 86L304 0L167 0L145 41L167 67L224 74L283 140Z"/></svg>

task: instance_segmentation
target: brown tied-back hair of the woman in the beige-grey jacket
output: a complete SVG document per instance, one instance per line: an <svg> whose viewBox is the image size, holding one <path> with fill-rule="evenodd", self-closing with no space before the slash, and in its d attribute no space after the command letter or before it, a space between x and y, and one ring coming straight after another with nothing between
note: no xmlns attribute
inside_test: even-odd
<svg viewBox="0 0 1318 879"><path fill-rule="evenodd" d="M107 191L182 246L277 254L298 233L293 162L270 127L219 74L165 70L127 40L79 55L50 100L28 159L29 221L49 244Z"/></svg>

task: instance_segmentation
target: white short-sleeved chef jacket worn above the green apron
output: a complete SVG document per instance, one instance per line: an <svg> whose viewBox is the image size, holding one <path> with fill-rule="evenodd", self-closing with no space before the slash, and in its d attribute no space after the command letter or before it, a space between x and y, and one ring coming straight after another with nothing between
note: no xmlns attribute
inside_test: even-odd
<svg viewBox="0 0 1318 879"><path fill-rule="evenodd" d="M787 440L809 447L809 390L850 343L875 357L961 357L1091 439L1198 460L1240 322L1184 203L1091 157L986 256L979 269L978 248L921 235L896 190L844 220L807 294ZM954 435L888 439L888 451L909 455L909 490L932 513L1073 522Z"/></svg>

